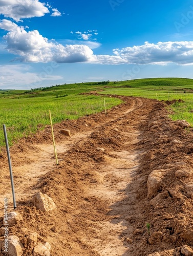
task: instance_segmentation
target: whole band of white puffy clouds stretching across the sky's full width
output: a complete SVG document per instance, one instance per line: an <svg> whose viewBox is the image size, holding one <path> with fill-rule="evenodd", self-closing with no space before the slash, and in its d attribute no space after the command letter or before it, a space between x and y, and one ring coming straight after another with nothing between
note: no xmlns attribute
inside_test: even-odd
<svg viewBox="0 0 193 256"><path fill-rule="evenodd" d="M141 46L114 49L112 55L94 55L91 48L97 48L100 44L88 40L92 35L89 31L75 32L84 40L66 40L67 45L63 46L55 40L43 37L37 30L27 32L25 27L18 26L7 19L0 21L0 28L8 31L4 36L7 42L6 49L18 55L17 59L23 62L193 65L193 41L168 41L157 44L145 42Z"/></svg>

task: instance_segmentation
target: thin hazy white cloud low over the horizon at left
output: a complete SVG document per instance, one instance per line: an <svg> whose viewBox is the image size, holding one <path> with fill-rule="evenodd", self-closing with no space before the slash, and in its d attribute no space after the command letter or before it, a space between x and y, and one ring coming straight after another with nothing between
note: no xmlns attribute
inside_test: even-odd
<svg viewBox="0 0 193 256"><path fill-rule="evenodd" d="M34 88L37 83L39 87L41 82L47 80L59 80L63 77L53 74L42 75L41 73L46 73L44 69L40 74L30 72L31 67L29 65L0 65L0 89L26 89L29 90ZM45 69L46 70L46 69Z"/></svg>

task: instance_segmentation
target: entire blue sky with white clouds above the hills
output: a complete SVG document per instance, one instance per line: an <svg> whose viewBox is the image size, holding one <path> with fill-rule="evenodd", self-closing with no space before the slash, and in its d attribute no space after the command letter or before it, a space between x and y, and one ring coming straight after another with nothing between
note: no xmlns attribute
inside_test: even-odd
<svg viewBox="0 0 193 256"><path fill-rule="evenodd" d="M0 89L193 78L192 1L0 0Z"/></svg>

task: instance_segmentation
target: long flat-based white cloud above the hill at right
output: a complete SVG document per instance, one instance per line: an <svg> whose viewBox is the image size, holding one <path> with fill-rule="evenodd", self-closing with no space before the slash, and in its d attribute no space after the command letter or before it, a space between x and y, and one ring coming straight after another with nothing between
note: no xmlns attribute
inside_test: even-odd
<svg viewBox="0 0 193 256"><path fill-rule="evenodd" d="M145 42L141 46L114 49L114 55L97 55L97 62L102 64L157 64L177 63L193 65L193 41Z"/></svg>

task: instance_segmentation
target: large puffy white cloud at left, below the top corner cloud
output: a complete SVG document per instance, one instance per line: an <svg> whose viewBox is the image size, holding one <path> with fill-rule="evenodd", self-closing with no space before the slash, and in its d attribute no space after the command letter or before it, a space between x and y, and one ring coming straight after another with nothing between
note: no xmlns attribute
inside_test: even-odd
<svg viewBox="0 0 193 256"><path fill-rule="evenodd" d="M58 44L55 40L48 40L37 30L27 32L23 26L17 26L10 20L3 19L0 28L9 31L4 39L7 41L7 50L19 55L24 62L84 62L94 61L93 51L85 45Z"/></svg>

